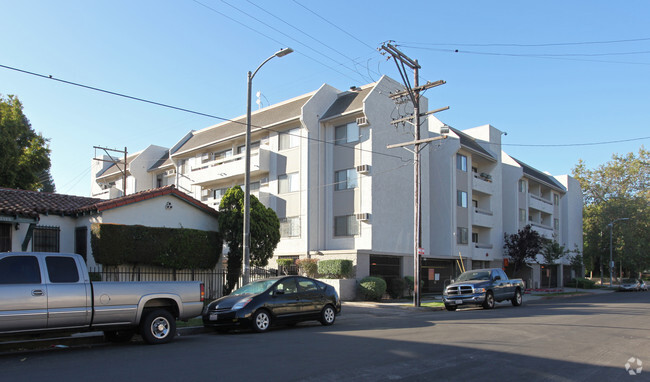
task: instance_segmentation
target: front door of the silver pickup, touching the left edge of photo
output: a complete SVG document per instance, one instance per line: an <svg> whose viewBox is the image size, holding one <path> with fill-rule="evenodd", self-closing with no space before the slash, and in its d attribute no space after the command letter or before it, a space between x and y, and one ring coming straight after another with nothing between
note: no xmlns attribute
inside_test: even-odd
<svg viewBox="0 0 650 382"><path fill-rule="evenodd" d="M0 258L0 296L0 332L47 326L47 287L36 256Z"/></svg>

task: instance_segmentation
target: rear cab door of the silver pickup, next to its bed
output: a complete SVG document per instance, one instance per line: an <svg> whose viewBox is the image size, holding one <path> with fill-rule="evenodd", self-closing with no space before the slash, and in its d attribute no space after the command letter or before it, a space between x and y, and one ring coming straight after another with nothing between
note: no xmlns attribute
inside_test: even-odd
<svg viewBox="0 0 650 382"><path fill-rule="evenodd" d="M48 276L47 327L71 328L90 325L90 284L79 274L75 258L46 256Z"/></svg>

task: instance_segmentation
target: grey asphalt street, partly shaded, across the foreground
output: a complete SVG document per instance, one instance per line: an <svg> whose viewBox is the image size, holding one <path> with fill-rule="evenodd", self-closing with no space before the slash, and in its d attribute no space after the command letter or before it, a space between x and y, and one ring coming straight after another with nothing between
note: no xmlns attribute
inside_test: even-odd
<svg viewBox="0 0 650 382"><path fill-rule="evenodd" d="M0 381L650 380L649 302L639 292L456 312L346 306L330 327L4 353Z"/></svg>

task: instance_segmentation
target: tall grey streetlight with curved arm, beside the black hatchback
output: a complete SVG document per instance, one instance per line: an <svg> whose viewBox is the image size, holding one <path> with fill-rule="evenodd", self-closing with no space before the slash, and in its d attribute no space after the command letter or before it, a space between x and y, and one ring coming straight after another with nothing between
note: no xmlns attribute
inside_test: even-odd
<svg viewBox="0 0 650 382"><path fill-rule="evenodd" d="M250 246L251 246L251 88L253 86L253 77L260 70L264 64L269 62L274 57L284 57L289 53L292 53L293 49L284 48L280 49L271 57L267 58L260 64L260 66L255 69L254 72L248 72L248 102L246 105L246 163L245 163L245 172L244 172L244 275L243 275L243 285L248 284L250 279Z"/></svg>

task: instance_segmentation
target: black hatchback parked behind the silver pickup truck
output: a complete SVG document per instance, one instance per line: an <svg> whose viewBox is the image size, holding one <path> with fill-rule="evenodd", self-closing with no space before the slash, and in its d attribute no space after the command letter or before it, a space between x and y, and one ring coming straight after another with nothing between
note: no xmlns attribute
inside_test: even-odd
<svg viewBox="0 0 650 382"><path fill-rule="evenodd" d="M219 331L252 328L266 332L271 325L318 320L332 325L341 313L334 287L300 276L254 281L203 309L203 325Z"/></svg>

